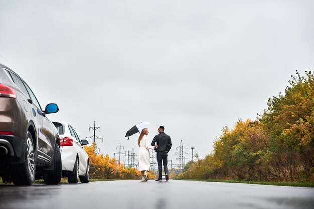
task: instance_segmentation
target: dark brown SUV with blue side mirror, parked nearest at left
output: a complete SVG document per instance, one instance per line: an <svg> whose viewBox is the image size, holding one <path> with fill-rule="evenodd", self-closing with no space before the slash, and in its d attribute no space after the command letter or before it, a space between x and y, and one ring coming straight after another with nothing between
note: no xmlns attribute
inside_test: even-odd
<svg viewBox="0 0 314 209"><path fill-rule="evenodd" d="M62 175L58 131L42 110L26 82L0 64L0 177L15 185L31 185L44 178L58 184Z"/></svg>

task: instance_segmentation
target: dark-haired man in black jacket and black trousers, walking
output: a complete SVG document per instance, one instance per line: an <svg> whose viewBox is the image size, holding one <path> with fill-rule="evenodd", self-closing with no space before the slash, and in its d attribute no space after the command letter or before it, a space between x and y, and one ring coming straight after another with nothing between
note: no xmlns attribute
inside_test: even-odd
<svg viewBox="0 0 314 209"><path fill-rule="evenodd" d="M157 131L158 135L156 135L152 142L151 146L154 146L157 142L158 147L155 149L157 152L157 164L158 164L158 179L156 181L162 181L162 161L164 164L165 178L168 181L168 168L167 168L167 157L168 152L171 149L171 139L166 133L164 133L164 126L159 126Z"/></svg>

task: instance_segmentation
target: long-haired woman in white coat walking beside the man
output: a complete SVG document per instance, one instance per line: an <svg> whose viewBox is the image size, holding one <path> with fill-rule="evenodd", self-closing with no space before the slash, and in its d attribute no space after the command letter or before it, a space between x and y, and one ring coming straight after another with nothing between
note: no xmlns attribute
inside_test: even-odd
<svg viewBox="0 0 314 209"><path fill-rule="evenodd" d="M154 149L158 145L150 146L150 141L148 139L148 129L144 128L139 135L138 138L138 146L139 146L139 153L138 153L138 170L142 174L142 182L147 181L147 172L150 168L150 153L149 149Z"/></svg>

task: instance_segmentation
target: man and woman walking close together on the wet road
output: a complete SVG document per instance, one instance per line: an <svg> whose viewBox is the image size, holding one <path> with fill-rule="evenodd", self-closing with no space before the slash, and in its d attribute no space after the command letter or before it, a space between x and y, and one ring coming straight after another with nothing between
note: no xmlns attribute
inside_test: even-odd
<svg viewBox="0 0 314 209"><path fill-rule="evenodd" d="M144 128L138 138L139 154L138 154L138 170L142 174L142 182L148 180L147 172L150 168L150 153L149 149L154 149L157 152L157 164L158 164L158 179L156 181L162 181L162 162L164 164L165 178L168 181L168 168L167 157L168 152L171 149L171 139L166 133L164 133L164 126L159 126L158 134L153 138L150 146L148 139L148 128ZM155 144L157 143L157 144Z"/></svg>

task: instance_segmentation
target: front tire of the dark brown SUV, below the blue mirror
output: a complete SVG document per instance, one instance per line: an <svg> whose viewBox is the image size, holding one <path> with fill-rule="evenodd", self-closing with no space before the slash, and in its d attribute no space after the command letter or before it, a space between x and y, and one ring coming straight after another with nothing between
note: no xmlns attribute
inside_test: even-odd
<svg viewBox="0 0 314 209"><path fill-rule="evenodd" d="M44 182L49 185L57 185L61 181L62 177L62 163L59 145L55 145L54 157L53 157L54 169L47 171L44 176Z"/></svg>

